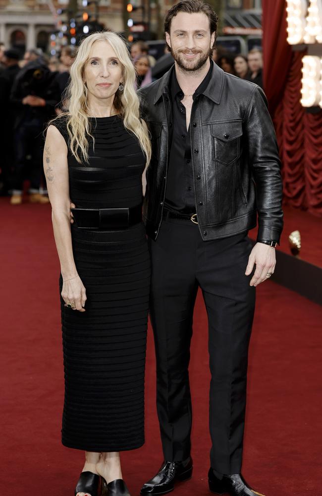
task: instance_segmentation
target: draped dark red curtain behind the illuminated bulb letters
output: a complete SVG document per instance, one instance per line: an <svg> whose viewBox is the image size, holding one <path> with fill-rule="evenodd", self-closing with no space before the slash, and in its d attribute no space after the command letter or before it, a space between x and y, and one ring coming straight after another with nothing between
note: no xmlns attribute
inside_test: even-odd
<svg viewBox="0 0 322 496"><path fill-rule="evenodd" d="M302 57L286 41L286 1L263 0L264 87L275 125L284 202L322 215L322 111L300 103Z"/></svg>

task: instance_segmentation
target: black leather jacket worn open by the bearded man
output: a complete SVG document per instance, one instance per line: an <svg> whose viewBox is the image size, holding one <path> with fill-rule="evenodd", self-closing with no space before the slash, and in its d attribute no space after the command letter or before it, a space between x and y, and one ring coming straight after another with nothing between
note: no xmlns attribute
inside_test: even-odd
<svg viewBox="0 0 322 496"><path fill-rule="evenodd" d="M156 240L164 203L172 123L169 82L174 66L140 89L152 140L143 216ZM204 241L256 226L258 239L279 242L282 182L275 131L264 92L213 63L213 75L192 106L190 138L195 201Z"/></svg>

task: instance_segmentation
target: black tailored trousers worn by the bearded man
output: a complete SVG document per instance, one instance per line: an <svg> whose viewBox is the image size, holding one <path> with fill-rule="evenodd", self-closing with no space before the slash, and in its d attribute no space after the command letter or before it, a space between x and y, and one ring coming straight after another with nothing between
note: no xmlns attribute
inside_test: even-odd
<svg viewBox="0 0 322 496"><path fill-rule="evenodd" d="M245 276L247 233L204 242L187 220L163 220L152 261L150 314L157 357L157 409L164 458L190 455L191 396L188 366L198 288L209 323L211 466L241 471L248 345L255 288Z"/></svg>

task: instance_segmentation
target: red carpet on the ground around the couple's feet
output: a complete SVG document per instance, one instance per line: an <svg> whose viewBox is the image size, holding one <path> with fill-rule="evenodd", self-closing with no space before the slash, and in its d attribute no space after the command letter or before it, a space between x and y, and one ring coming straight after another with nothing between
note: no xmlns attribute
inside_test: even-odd
<svg viewBox="0 0 322 496"><path fill-rule="evenodd" d="M1 492L72 496L83 453L60 444L63 401L58 260L50 208L0 200ZM176 496L207 496L206 313L195 313L191 383L194 475ZM243 472L266 496L321 496L322 308L273 284L258 288ZM132 496L161 463L150 331L146 444L122 456Z"/></svg>

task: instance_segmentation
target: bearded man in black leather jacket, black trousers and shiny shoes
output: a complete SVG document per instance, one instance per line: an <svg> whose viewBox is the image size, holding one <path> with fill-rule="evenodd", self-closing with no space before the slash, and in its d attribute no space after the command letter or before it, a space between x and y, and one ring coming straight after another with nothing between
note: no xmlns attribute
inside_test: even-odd
<svg viewBox="0 0 322 496"><path fill-rule="evenodd" d="M283 225L280 161L261 88L211 60L216 27L207 3L175 4L165 18L175 64L139 91L153 146L144 218L164 453L160 471L141 495L166 494L192 475L188 365L199 287L212 374L209 488L232 496L259 494L241 475L247 355L255 287L274 272ZM252 248L247 234L257 217Z"/></svg>

